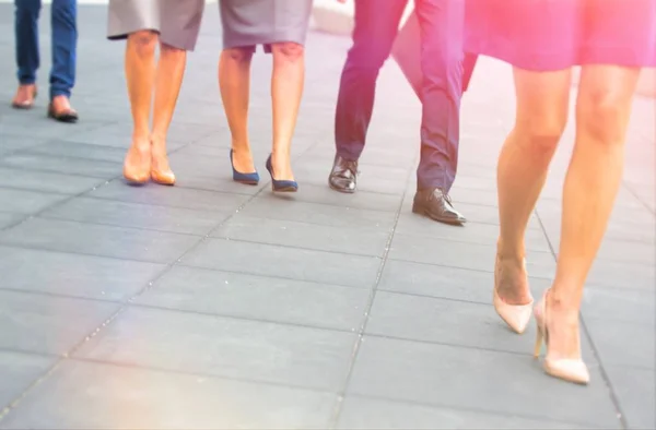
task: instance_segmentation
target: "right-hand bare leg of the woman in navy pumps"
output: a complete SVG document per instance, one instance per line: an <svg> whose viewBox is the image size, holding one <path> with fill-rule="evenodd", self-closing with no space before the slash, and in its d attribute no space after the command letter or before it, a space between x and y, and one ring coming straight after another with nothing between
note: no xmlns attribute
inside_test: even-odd
<svg viewBox="0 0 656 430"><path fill-rule="evenodd" d="M294 43L274 44L272 51L273 152L271 164L276 179L293 180L292 138L303 96L305 51L303 46Z"/></svg>

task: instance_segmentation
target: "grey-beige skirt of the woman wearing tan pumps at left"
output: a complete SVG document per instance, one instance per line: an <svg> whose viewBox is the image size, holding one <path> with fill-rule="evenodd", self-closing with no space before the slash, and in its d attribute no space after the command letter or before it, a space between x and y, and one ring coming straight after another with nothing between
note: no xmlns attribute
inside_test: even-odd
<svg viewBox="0 0 656 430"><path fill-rule="evenodd" d="M174 48L194 50L204 0L109 0L107 38L125 39L129 34L151 29Z"/></svg>

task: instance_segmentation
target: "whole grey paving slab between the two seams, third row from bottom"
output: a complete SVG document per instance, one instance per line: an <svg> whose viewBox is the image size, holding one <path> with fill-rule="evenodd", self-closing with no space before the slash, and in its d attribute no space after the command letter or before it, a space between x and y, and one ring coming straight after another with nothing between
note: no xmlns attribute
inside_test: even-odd
<svg viewBox="0 0 656 430"><path fill-rule="evenodd" d="M176 266L134 302L354 331L364 318L368 297L370 290L364 288Z"/></svg>

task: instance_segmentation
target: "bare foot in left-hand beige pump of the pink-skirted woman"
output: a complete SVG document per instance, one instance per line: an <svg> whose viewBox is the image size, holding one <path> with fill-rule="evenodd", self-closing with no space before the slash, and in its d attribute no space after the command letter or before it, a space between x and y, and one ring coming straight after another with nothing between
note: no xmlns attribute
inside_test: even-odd
<svg viewBox="0 0 656 430"><path fill-rule="evenodd" d="M530 304L532 296L524 259L503 258L497 253L494 266L494 288L506 304Z"/></svg>

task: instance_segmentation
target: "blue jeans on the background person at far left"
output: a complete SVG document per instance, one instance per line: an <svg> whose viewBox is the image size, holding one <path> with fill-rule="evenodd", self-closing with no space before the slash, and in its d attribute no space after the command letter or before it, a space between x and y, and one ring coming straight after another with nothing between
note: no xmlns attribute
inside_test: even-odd
<svg viewBox="0 0 656 430"><path fill-rule="evenodd" d="M40 0L14 0L17 77L21 85L36 82L39 67L38 16ZM52 70L50 71L50 98L71 96L75 83L75 45L78 27L75 0L52 0Z"/></svg>

